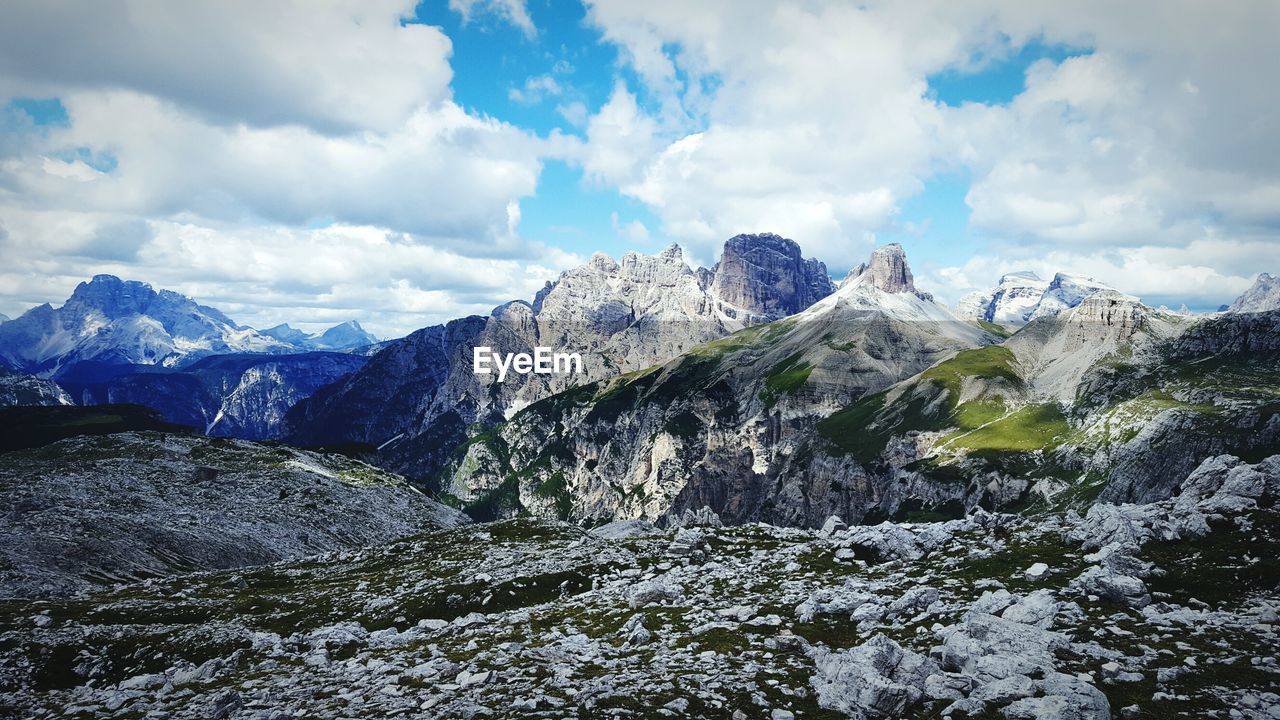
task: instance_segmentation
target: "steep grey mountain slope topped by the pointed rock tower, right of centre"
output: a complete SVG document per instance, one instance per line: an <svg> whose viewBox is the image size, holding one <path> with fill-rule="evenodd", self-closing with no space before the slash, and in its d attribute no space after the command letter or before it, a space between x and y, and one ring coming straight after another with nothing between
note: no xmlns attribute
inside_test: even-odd
<svg viewBox="0 0 1280 720"><path fill-rule="evenodd" d="M922 295L900 249L882 250L797 315L529 406L474 438L444 487L499 515L657 520L708 505L728 521L820 524L872 489L840 460L838 480L804 471L815 424L996 342Z"/></svg>

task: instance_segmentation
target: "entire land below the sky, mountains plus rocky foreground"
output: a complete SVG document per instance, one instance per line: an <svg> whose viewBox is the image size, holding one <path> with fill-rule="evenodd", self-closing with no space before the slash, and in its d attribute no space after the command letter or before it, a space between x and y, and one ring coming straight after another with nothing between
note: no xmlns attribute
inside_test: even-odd
<svg viewBox="0 0 1280 720"><path fill-rule="evenodd" d="M1270 275L737 236L346 352L113 281L0 325L3 716L1280 716Z"/></svg>

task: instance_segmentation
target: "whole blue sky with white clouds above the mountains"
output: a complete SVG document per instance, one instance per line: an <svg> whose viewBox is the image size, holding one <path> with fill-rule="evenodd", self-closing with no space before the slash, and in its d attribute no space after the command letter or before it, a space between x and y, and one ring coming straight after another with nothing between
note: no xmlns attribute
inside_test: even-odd
<svg viewBox="0 0 1280 720"><path fill-rule="evenodd" d="M886 242L1211 310L1280 272L1280 4L0 8L0 313L97 273L381 337L593 252Z"/></svg>

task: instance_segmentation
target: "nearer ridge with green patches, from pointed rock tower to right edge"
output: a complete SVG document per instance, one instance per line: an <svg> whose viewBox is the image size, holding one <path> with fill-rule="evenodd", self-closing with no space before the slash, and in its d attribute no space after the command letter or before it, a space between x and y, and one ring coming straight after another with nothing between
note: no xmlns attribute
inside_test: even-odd
<svg viewBox="0 0 1280 720"><path fill-rule="evenodd" d="M1189 318L1101 290L1000 342L900 260L881 251L797 315L536 402L472 436L442 487L479 516L705 505L815 527L1151 502L1206 457L1280 447L1274 313Z"/></svg>

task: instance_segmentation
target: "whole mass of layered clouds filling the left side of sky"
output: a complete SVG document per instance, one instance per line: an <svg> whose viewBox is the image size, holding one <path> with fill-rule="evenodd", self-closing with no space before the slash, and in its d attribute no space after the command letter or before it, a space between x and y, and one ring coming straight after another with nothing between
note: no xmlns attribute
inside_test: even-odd
<svg viewBox="0 0 1280 720"><path fill-rule="evenodd" d="M8 8L0 106L58 96L67 123L3 118L4 311L101 272L259 327L360 318L384 336L530 296L576 261L518 234L543 159L572 141L463 110L449 40L412 13Z"/></svg>

